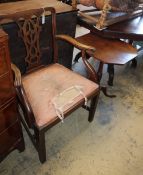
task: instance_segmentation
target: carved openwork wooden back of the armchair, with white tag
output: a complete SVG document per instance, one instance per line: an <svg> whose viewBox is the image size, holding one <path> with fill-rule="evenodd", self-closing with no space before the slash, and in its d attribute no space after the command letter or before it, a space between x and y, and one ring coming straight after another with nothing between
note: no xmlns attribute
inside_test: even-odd
<svg viewBox="0 0 143 175"><path fill-rule="evenodd" d="M42 24L42 22L45 22L45 15L50 14L51 24ZM56 12L53 7L31 9L23 12L20 11L11 15L1 16L0 20L5 18L14 21L19 28L18 36L22 38L26 50L26 72L40 67L43 52L50 51L50 48L52 48L53 61L57 62L57 49L55 43ZM40 45L42 25L49 25L49 27L51 27L50 37L52 39L50 40L50 47L42 48ZM48 40L48 36L45 37L47 37Z"/></svg>

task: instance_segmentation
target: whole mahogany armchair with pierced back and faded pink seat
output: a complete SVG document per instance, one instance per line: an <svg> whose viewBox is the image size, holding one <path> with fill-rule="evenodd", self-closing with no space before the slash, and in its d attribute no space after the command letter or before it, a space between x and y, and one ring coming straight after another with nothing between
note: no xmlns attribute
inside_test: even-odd
<svg viewBox="0 0 143 175"><path fill-rule="evenodd" d="M48 66L41 65L40 58L43 50L50 50L42 49L39 42L42 30L41 15L47 12L51 13L53 48L53 64ZM17 12L10 16L3 16L0 20L3 18L10 18L16 22L26 48L26 74L21 76L20 70L14 64L12 69L19 105L24 114L24 117L21 115L21 121L38 151L41 163L44 163L46 161L45 132L48 129L63 121L63 118L81 106L89 111L89 122L94 118L99 85L96 84L96 72L86 60L86 51L94 51L94 48L81 44L69 36L56 35L56 13L52 7ZM48 36L45 37L48 39ZM65 40L81 50L90 80L58 63L57 39ZM85 105L87 99L91 100L90 106ZM31 129L34 134L31 133Z"/></svg>

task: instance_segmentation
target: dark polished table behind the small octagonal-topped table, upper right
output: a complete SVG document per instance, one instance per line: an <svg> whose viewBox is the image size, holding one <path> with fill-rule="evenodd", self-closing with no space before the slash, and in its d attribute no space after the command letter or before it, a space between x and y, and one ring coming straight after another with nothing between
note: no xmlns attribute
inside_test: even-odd
<svg viewBox="0 0 143 175"><path fill-rule="evenodd" d="M133 41L143 41L143 15L134 17L132 19L122 21L103 30L95 28L92 22L88 19L78 17L78 24L89 29L95 35L113 39L128 39L130 43ZM132 60L132 66L136 67L136 59ZM108 65L109 80L108 84L113 85L113 81L110 77L114 76L114 65Z"/></svg>

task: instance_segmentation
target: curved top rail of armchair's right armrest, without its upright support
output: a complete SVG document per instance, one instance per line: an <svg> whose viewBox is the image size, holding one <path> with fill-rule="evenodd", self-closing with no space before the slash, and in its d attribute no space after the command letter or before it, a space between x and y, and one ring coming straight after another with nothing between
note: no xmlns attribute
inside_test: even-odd
<svg viewBox="0 0 143 175"><path fill-rule="evenodd" d="M56 35L56 39L65 40L65 41L69 42L70 44L74 45L74 47L76 47L77 49L80 49L80 50L95 51L94 47L82 44L82 43L78 42L76 39L74 39L74 38L72 38L68 35Z"/></svg>

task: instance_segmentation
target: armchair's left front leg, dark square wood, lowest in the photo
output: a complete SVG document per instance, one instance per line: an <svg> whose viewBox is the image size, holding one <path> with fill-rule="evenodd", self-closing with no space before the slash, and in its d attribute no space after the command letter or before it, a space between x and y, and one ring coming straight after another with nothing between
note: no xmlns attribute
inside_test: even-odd
<svg viewBox="0 0 143 175"><path fill-rule="evenodd" d="M35 128L35 138L39 160L41 163L44 163L46 161L45 132Z"/></svg>

